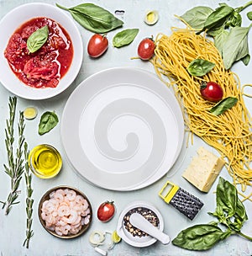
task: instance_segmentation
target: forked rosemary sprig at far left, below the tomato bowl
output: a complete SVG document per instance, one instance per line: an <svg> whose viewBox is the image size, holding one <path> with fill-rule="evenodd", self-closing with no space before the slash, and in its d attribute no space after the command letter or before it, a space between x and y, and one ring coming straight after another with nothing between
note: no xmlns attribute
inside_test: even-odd
<svg viewBox="0 0 252 256"><path fill-rule="evenodd" d="M24 158L23 158L23 147L24 147L24 114L23 112L19 112L19 120L18 120L18 147L16 149L16 155L13 155L13 142L14 142L14 120L16 115L16 106L17 106L17 98L10 97L8 108L9 108L9 118L6 120L6 128L5 128L5 147L8 155L8 164L3 164L5 168L5 173L11 179L11 191L8 195L8 198L3 203L3 208L5 208L5 215L8 215L12 206L18 204L18 186L20 184L20 180L22 179L22 174L24 173Z"/></svg>

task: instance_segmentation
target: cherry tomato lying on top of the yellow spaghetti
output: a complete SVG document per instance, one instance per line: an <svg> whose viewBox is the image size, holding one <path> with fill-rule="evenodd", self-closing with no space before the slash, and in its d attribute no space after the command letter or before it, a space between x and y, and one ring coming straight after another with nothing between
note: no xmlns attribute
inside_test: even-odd
<svg viewBox="0 0 252 256"><path fill-rule="evenodd" d="M223 99L223 88L215 82L203 82L201 84L200 92L203 99L209 101L219 101Z"/></svg>

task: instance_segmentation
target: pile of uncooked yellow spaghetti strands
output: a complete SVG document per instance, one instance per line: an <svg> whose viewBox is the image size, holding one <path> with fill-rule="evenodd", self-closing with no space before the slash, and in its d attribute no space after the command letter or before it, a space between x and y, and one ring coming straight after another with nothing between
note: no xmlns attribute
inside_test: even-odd
<svg viewBox="0 0 252 256"><path fill-rule="evenodd" d="M225 70L223 60L213 42L192 29L172 28L171 36L158 35L155 57L152 61L155 71L164 80L169 78L184 109L185 123L193 134L215 147L226 157L228 173L234 184L241 184L242 190L252 181L252 132L251 116L246 109L239 77ZM192 77L186 67L195 59L215 63L211 72L203 77ZM200 84L213 81L223 88L223 98L235 97L238 103L222 115L209 112L214 103L202 99ZM243 195L245 197L245 195ZM251 194L245 199L250 199Z"/></svg>

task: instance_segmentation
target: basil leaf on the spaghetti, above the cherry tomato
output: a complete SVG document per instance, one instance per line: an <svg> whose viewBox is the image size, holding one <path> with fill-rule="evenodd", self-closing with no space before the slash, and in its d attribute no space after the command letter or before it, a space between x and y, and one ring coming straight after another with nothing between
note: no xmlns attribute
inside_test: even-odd
<svg viewBox="0 0 252 256"><path fill-rule="evenodd" d="M193 60L187 67L187 71L194 77L202 77L210 72L215 64L202 59Z"/></svg>

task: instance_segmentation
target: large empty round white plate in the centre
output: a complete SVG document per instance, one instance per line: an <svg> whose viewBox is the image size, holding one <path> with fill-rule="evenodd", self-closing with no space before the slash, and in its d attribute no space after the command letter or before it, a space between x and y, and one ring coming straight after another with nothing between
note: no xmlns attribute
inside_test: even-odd
<svg viewBox="0 0 252 256"><path fill-rule="evenodd" d="M84 80L61 120L71 164L105 189L139 189L160 179L175 163L183 136L175 96L158 77L130 67Z"/></svg>

